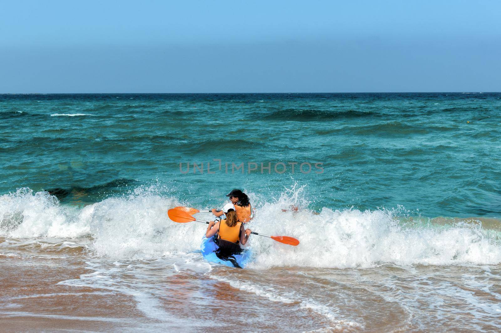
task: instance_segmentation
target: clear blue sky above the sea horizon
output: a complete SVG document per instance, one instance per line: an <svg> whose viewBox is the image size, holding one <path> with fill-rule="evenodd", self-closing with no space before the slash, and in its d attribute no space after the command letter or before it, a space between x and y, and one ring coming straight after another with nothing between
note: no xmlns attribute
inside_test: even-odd
<svg viewBox="0 0 501 333"><path fill-rule="evenodd" d="M0 93L501 91L498 1L17 1Z"/></svg>

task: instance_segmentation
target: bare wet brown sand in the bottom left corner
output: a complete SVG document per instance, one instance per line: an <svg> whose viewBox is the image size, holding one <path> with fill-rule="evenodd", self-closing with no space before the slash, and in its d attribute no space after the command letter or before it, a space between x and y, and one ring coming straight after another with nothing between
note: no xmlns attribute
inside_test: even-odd
<svg viewBox="0 0 501 333"><path fill-rule="evenodd" d="M128 319L144 318L131 297L88 287L58 284L89 273L81 260L0 258L5 331L90 330L129 327Z"/></svg>

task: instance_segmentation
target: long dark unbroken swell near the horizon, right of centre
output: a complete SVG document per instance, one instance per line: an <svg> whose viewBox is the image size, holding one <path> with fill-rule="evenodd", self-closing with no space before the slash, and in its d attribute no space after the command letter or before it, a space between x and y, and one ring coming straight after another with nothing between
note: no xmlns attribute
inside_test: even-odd
<svg viewBox="0 0 501 333"><path fill-rule="evenodd" d="M329 121L342 118L362 118L381 116L380 113L370 111L331 111L331 110L312 110L312 109L284 109L271 114L261 116L262 120L292 120L292 121Z"/></svg>

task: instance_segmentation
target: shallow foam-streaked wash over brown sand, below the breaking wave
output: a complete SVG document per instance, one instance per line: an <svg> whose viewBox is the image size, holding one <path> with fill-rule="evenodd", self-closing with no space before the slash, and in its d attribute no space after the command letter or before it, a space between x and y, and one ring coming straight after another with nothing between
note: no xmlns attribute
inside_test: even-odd
<svg viewBox="0 0 501 333"><path fill-rule="evenodd" d="M197 254L183 266L14 253L0 256L2 331L495 331L501 313L499 266L197 273Z"/></svg>

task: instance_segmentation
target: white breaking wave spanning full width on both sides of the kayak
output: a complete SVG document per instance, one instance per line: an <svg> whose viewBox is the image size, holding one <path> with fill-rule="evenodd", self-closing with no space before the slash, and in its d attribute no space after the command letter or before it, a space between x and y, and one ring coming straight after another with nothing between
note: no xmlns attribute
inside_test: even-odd
<svg viewBox="0 0 501 333"><path fill-rule="evenodd" d="M250 267L367 268L387 263L501 262L497 220L485 225L479 220L473 223L472 219L433 223L423 218L410 223L399 211L323 208L312 212L300 203L298 191L285 192L274 202L255 204L255 218L248 227L264 234L295 237L301 244L292 247L253 236L249 246L255 255ZM84 208L60 205L48 192L20 189L0 197L0 236L91 237L89 250L94 255L116 259L153 259L196 252L205 228L199 223L177 224L166 216L169 208L181 205L187 203L145 187ZM299 211L291 211L291 205L299 205ZM211 215L197 217L209 220Z"/></svg>

